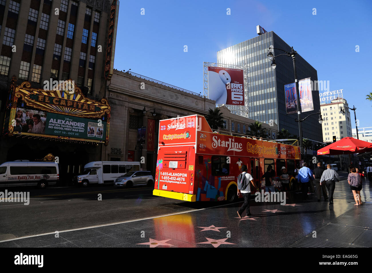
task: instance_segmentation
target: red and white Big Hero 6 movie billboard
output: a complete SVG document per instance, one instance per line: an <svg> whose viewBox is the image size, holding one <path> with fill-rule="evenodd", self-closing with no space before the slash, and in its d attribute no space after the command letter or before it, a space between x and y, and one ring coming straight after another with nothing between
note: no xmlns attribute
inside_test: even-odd
<svg viewBox="0 0 372 273"><path fill-rule="evenodd" d="M208 66L208 95L217 104L244 105L243 69Z"/></svg>

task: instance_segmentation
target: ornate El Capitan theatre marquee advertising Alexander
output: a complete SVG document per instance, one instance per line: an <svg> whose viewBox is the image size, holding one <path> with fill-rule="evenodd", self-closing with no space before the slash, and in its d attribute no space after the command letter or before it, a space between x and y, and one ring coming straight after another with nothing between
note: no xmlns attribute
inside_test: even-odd
<svg viewBox="0 0 372 273"><path fill-rule="evenodd" d="M84 97L71 79L52 90L32 88L29 82L10 86L3 135L109 142L110 105L105 98Z"/></svg>

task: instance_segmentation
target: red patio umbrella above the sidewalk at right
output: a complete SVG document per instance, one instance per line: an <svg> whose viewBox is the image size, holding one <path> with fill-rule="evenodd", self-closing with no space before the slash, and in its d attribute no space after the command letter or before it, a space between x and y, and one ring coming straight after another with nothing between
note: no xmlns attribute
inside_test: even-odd
<svg viewBox="0 0 372 273"><path fill-rule="evenodd" d="M347 155L372 152L372 143L353 137L344 137L318 150L318 155Z"/></svg>

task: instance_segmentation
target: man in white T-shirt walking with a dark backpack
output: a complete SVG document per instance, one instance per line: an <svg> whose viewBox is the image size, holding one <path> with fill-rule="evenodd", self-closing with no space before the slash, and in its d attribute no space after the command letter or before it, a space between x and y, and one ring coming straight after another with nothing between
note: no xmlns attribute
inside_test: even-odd
<svg viewBox="0 0 372 273"><path fill-rule="evenodd" d="M238 196L243 195L244 197L244 203L240 207L240 209L237 211L239 218L241 218L241 214L247 209L247 216L251 215L250 209L249 209L249 201L251 197L251 183L254 186L254 188L257 188L256 185L254 185L253 177L247 173L247 166L242 165L241 166L241 174L238 176Z"/></svg>

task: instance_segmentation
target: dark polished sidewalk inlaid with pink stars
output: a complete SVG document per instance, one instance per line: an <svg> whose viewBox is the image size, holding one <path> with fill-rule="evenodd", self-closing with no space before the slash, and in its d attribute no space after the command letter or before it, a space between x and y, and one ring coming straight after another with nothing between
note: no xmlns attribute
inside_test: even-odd
<svg viewBox="0 0 372 273"><path fill-rule="evenodd" d="M336 184L331 205L323 197L317 202L315 194L308 201L287 200L286 205L252 200L253 215L243 219L237 218L239 202L60 232L57 238L49 234L3 241L0 247L371 247L371 188L363 181L362 201L367 202L360 207L353 205L343 180Z"/></svg>

